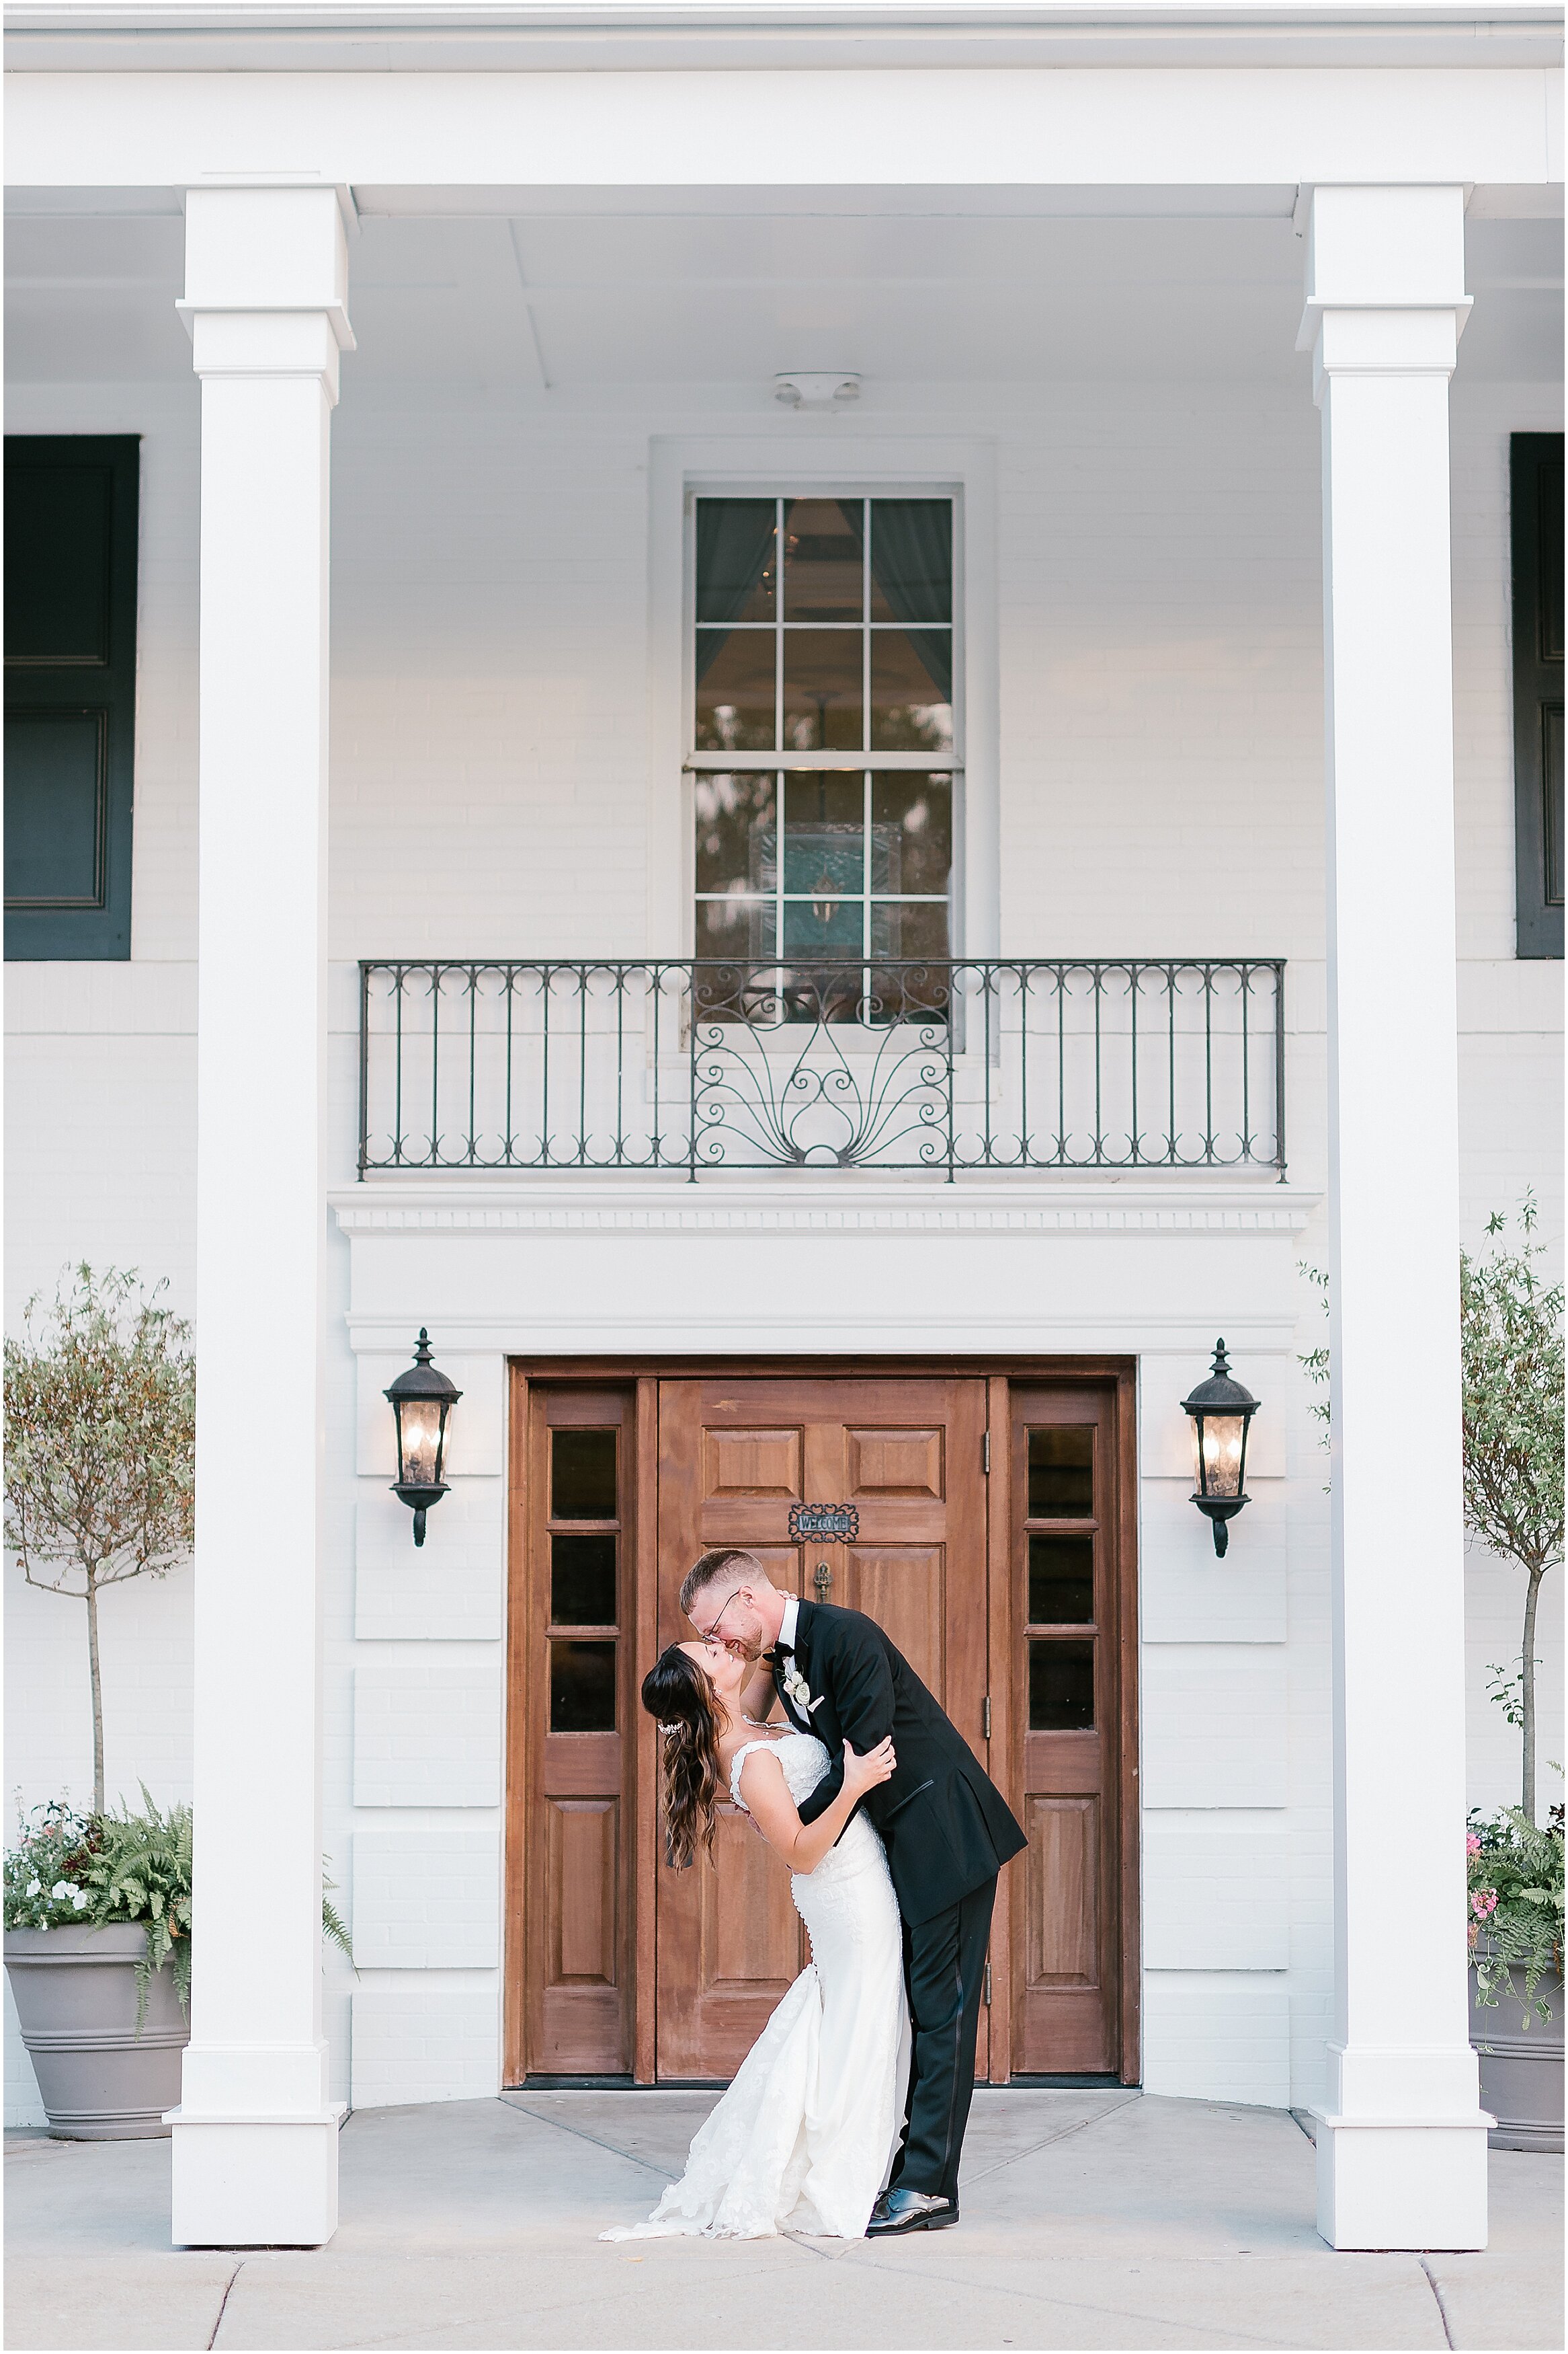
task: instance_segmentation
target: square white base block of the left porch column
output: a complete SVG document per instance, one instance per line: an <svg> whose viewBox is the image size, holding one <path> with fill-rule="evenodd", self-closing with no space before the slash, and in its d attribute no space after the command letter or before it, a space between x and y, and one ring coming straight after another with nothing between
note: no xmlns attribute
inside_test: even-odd
<svg viewBox="0 0 1568 2354"><path fill-rule="evenodd" d="M339 2227L339 2126L317 2116L200 2119L174 2126L176 2248L324 2248Z"/></svg>

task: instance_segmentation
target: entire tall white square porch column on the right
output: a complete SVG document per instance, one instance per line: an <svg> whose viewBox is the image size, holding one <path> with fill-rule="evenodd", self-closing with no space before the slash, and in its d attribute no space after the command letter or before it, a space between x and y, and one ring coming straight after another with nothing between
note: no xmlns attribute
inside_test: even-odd
<svg viewBox="0 0 1568 2354"><path fill-rule="evenodd" d="M1335 2248L1483 2248L1465 1982L1448 377L1460 188L1319 188L1324 412Z"/></svg>

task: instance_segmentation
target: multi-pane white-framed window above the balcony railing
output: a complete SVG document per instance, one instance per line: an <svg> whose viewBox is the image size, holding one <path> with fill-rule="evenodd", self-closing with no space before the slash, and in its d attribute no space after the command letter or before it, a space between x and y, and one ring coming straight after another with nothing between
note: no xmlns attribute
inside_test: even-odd
<svg viewBox="0 0 1568 2354"><path fill-rule="evenodd" d="M952 953L952 499L696 501L696 953Z"/></svg>

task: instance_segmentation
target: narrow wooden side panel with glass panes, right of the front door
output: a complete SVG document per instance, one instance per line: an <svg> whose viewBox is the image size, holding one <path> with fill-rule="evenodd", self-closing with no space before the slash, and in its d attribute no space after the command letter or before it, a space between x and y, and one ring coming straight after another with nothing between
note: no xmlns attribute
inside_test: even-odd
<svg viewBox="0 0 1568 2354"><path fill-rule="evenodd" d="M1011 1398L1013 2072L1121 2067L1121 1580L1114 1389ZM1023 1888L1018 1886L1023 1881Z"/></svg>

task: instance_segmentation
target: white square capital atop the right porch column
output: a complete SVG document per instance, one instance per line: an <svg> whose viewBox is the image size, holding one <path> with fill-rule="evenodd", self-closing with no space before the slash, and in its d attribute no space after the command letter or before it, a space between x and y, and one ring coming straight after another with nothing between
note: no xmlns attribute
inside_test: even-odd
<svg viewBox="0 0 1568 2354"><path fill-rule="evenodd" d="M1319 403L1326 374L1453 374L1467 318L1465 188L1312 191L1295 348Z"/></svg>

